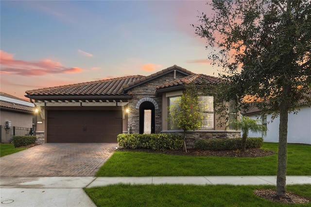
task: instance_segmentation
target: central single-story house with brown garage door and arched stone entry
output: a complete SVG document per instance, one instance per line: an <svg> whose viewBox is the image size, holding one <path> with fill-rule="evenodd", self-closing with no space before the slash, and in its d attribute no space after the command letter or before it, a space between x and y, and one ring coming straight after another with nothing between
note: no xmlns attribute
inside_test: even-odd
<svg viewBox="0 0 311 207"><path fill-rule="evenodd" d="M67 86L26 91L39 111L36 135L44 142L117 142L128 133L172 133L168 106L185 85L218 78L195 74L176 65L149 76L133 75ZM213 97L202 98L206 104ZM240 137L240 132L217 127L213 106L204 112L205 137ZM179 131L180 132L180 131ZM178 132L175 132L178 133ZM198 137L196 133L193 136Z"/></svg>

